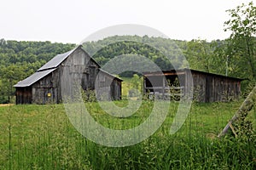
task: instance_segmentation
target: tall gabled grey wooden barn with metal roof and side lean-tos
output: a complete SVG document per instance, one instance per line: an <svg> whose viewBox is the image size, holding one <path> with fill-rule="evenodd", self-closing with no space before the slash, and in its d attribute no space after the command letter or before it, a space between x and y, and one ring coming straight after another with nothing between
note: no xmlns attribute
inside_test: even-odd
<svg viewBox="0 0 256 170"><path fill-rule="evenodd" d="M121 82L118 77L102 71L80 45L56 55L32 76L15 84L16 104L60 103L61 90L68 91L76 85L84 90L97 88L97 96L104 94L108 99L120 99ZM63 87L67 89L61 89ZM69 94L74 95L73 92Z"/></svg>

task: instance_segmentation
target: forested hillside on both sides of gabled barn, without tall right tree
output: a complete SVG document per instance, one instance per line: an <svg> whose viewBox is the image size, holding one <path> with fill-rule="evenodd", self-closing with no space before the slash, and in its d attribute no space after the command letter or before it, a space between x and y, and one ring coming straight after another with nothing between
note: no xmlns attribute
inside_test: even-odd
<svg viewBox="0 0 256 170"><path fill-rule="evenodd" d="M125 40L125 41L123 41ZM97 42L85 42L84 49L100 65L120 54L140 54L154 61L163 70L190 67L230 77L253 80L247 59L240 54L230 54L230 40L192 40L189 42L162 37L122 36L108 37ZM30 76L56 54L65 53L75 44L51 42L17 42L0 40L0 103L9 103L15 95L13 85ZM169 59L171 59L172 64ZM187 65L181 56L189 61ZM129 57L129 55L127 55ZM255 67L255 65L253 65ZM131 77L132 72L121 76ZM247 84L247 82L245 82Z"/></svg>

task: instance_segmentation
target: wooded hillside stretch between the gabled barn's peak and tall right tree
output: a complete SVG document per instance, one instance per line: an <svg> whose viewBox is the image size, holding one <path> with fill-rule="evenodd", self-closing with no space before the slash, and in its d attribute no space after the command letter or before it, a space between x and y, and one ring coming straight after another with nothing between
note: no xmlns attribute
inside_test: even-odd
<svg viewBox="0 0 256 170"><path fill-rule="evenodd" d="M217 45L223 46L224 41L186 42L161 37L115 36L98 42L86 42L84 48L101 65L121 54L139 54L154 61L162 70L173 69L172 65L176 65L176 68L190 66L195 70L225 74L226 68L223 64L226 58L215 55ZM189 65L185 63L183 56L189 61Z"/></svg>

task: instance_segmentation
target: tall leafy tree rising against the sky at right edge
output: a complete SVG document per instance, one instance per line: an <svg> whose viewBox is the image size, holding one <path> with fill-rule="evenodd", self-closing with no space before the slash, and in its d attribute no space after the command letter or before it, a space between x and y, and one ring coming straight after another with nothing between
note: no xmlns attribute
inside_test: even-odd
<svg viewBox="0 0 256 170"><path fill-rule="evenodd" d="M253 2L242 3L234 9L229 9L230 20L224 22L224 31L231 31L227 56L241 57L247 64L247 78L256 79L256 7ZM241 65L244 67L245 65Z"/></svg>

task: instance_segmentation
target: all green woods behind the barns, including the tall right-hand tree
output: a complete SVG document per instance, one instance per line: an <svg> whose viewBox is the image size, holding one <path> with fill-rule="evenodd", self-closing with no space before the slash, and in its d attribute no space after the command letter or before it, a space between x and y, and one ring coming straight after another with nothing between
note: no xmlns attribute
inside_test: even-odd
<svg viewBox="0 0 256 170"><path fill-rule="evenodd" d="M121 54L127 58L139 54L154 61L162 70L189 67L246 79L242 91L247 94L256 82L256 7L252 3L227 10L230 20L224 31L230 38L207 42L202 39L180 41L162 37L114 36L96 42L84 42L85 51L100 65ZM0 39L0 103L9 103L16 82L30 76L56 54L65 53L75 44L17 42ZM189 62L186 63L182 56ZM168 59L166 59L168 57ZM170 63L172 61L172 64ZM132 77L126 71L119 76Z"/></svg>

